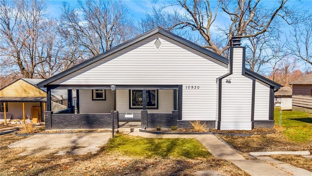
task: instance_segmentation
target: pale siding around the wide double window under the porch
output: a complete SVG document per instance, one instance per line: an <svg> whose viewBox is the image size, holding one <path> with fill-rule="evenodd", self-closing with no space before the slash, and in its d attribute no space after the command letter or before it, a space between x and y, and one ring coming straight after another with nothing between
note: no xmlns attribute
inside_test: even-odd
<svg viewBox="0 0 312 176"><path fill-rule="evenodd" d="M158 90L158 109L147 109L148 113L172 113L174 91ZM129 90L116 90L116 110L119 113L141 113L141 109L129 109Z"/></svg>

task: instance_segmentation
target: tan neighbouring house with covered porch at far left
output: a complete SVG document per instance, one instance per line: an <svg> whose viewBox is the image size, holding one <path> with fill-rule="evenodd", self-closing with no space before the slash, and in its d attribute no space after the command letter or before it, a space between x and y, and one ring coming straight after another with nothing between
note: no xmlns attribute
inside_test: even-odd
<svg viewBox="0 0 312 176"><path fill-rule="evenodd" d="M38 88L37 83L44 79L20 78L15 82L0 89L0 119L4 121L4 104L7 119L22 119L23 117L32 119L33 122L43 121L43 114L46 103L46 89ZM65 93L64 93L65 91ZM67 91L53 91L52 99L59 101L59 94ZM53 102L54 111L64 110L64 106ZM65 109L67 106L65 106Z"/></svg>

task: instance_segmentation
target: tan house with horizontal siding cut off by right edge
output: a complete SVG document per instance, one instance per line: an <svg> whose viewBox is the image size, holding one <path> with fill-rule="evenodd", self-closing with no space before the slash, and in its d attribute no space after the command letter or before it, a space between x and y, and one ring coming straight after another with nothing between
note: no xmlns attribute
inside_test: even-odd
<svg viewBox="0 0 312 176"><path fill-rule="evenodd" d="M312 113L312 74L290 84L292 84L292 110Z"/></svg>

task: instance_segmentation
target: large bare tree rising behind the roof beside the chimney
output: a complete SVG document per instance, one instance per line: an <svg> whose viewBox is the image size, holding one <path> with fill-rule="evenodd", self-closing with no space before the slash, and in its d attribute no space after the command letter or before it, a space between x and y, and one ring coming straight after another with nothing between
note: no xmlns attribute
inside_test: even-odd
<svg viewBox="0 0 312 176"><path fill-rule="evenodd" d="M176 20L174 25L168 27L169 29L196 31L205 40L203 47L222 54L230 47L234 35L242 38L256 37L267 33L274 20L288 20L290 9L286 6L286 2L287 0L280 0L276 2L277 6L268 7L263 6L260 0L219 0L215 7L212 7L209 0L177 0L177 3L166 4L160 10L166 18ZM165 11L168 6L176 7L171 16ZM154 21L151 23L154 26L155 23L158 23L157 26L164 26L161 24L164 20L157 20L161 17L160 12L154 11L154 14L156 12L158 14L155 18L147 16L147 20ZM215 24L220 15L228 16L226 26ZM143 23L148 24L144 20ZM213 34L215 27L218 35Z"/></svg>

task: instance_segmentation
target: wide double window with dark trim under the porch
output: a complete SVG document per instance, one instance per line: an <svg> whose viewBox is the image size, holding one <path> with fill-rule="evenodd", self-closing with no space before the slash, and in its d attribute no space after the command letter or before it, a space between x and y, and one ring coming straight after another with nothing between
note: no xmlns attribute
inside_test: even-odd
<svg viewBox="0 0 312 176"><path fill-rule="evenodd" d="M143 91L129 90L129 109L143 108ZM146 90L146 109L158 109L158 90Z"/></svg>

